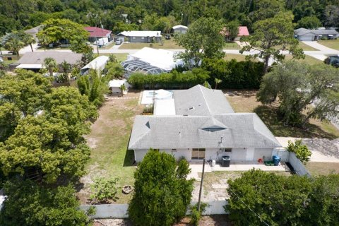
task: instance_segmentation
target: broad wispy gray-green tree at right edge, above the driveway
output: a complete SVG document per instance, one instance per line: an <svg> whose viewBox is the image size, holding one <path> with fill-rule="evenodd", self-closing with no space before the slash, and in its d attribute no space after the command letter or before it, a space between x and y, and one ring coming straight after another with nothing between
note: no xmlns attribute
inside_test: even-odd
<svg viewBox="0 0 339 226"><path fill-rule="evenodd" d="M275 102L283 121L304 126L310 118L339 117L339 70L319 64L311 66L288 61L263 76L257 98L263 104Z"/></svg>

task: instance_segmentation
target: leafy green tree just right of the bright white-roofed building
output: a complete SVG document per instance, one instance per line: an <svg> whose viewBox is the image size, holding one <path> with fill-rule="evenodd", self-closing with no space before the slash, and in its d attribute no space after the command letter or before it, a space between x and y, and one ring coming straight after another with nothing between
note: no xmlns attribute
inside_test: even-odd
<svg viewBox="0 0 339 226"><path fill-rule="evenodd" d="M199 18L189 27L183 35L177 35L174 40L185 48L178 54L186 64L197 67L204 58L222 58L224 38L220 34L222 24L214 18Z"/></svg>

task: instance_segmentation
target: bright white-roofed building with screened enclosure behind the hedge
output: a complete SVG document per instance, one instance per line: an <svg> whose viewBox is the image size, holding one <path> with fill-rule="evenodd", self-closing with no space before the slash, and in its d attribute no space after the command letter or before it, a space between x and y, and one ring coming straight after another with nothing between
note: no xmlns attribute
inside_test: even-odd
<svg viewBox="0 0 339 226"><path fill-rule="evenodd" d="M134 54L129 54L121 65L128 76L133 72L145 74L159 74L172 71L176 66L184 64L184 61L175 59L176 52L165 49L153 49L143 47Z"/></svg>

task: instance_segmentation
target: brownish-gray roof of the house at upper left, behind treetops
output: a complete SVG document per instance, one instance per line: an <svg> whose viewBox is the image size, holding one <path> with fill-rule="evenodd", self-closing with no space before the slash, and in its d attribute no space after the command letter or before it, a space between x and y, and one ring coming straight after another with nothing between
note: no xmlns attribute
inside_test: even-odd
<svg viewBox="0 0 339 226"><path fill-rule="evenodd" d="M23 57L18 60L18 64L44 64L44 59L52 57L61 64L66 61L69 64L76 64L81 61L82 54L76 54L73 52L26 52Z"/></svg>

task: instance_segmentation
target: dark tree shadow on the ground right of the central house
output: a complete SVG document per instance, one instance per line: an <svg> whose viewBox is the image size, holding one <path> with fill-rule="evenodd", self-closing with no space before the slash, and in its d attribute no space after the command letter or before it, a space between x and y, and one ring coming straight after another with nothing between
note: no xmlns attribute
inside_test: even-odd
<svg viewBox="0 0 339 226"><path fill-rule="evenodd" d="M304 128L288 126L283 123L281 117L278 115L278 108L273 106L261 105L254 109L258 117L268 126L274 136L292 136L299 138L328 138L334 139L335 135L323 131L320 126L305 124Z"/></svg>

